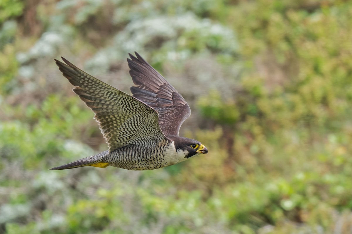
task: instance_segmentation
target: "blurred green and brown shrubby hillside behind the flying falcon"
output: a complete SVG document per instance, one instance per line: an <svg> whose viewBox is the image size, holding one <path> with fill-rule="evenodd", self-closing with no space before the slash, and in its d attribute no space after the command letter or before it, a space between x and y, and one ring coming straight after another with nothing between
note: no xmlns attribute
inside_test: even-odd
<svg viewBox="0 0 352 234"><path fill-rule="evenodd" d="M0 1L0 233L351 233L352 1ZM130 93L137 51L209 149L153 171L48 171L107 149L54 58Z"/></svg>

